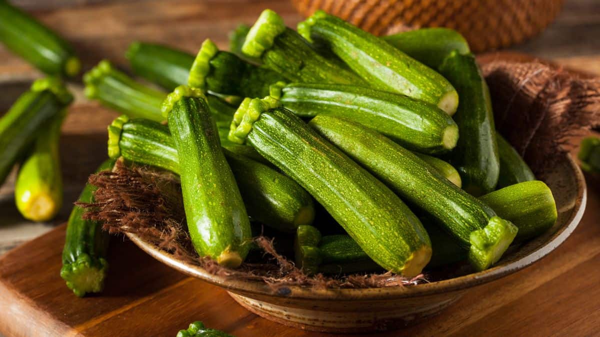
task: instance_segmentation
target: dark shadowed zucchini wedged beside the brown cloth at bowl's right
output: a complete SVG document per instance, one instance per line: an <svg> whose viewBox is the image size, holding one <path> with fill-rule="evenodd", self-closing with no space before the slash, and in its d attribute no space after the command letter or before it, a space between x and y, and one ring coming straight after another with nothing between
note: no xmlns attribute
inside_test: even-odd
<svg viewBox="0 0 600 337"><path fill-rule="evenodd" d="M500 172L496 188L535 180L535 175L533 175L527 163L517 153L517 150L497 132L496 143L498 145L498 158L500 160Z"/></svg>

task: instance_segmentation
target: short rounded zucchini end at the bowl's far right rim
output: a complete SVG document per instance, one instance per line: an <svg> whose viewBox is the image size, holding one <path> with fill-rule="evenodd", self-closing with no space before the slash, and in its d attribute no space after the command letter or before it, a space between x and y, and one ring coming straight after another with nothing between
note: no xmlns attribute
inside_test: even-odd
<svg viewBox="0 0 600 337"><path fill-rule="evenodd" d="M507 186L483 195L479 200L519 228L515 238L518 242L544 233L558 216L552 191L539 180Z"/></svg>

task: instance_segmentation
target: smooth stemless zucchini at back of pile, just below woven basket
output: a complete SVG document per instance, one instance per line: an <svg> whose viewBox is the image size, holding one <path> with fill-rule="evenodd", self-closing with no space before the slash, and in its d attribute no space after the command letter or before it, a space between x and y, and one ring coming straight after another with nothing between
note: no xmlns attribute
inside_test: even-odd
<svg viewBox="0 0 600 337"><path fill-rule="evenodd" d="M461 55L471 52L463 35L450 28L421 28L381 38L432 69L437 69L454 50L458 50Z"/></svg>

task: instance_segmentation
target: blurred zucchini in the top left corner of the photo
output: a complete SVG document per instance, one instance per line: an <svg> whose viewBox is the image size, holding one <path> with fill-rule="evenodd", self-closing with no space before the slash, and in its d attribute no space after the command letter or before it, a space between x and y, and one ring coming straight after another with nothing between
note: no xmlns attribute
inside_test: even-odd
<svg viewBox="0 0 600 337"><path fill-rule="evenodd" d="M81 70L67 41L5 0L0 0L0 42L46 74L74 77Z"/></svg>

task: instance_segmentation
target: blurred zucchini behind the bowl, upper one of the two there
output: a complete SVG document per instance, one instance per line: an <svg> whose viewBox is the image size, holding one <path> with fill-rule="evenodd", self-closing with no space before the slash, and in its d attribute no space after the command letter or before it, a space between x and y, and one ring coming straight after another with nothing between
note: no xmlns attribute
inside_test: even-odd
<svg viewBox="0 0 600 337"><path fill-rule="evenodd" d="M136 41L129 45L125 57L133 72L164 89L173 90L187 83L194 55L162 44Z"/></svg>

